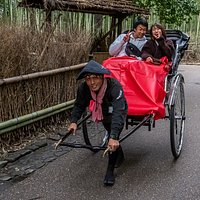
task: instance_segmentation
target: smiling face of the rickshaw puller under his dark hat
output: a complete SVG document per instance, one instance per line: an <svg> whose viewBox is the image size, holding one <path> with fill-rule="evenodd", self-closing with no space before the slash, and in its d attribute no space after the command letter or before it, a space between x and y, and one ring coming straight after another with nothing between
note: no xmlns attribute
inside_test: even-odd
<svg viewBox="0 0 200 200"><path fill-rule="evenodd" d="M91 91L97 92L103 84L103 75L91 74L85 77L85 82Z"/></svg>

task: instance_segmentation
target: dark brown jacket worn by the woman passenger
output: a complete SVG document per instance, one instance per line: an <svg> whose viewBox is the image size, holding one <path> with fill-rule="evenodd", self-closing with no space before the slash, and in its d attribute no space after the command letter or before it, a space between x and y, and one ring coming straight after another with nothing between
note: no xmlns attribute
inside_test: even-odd
<svg viewBox="0 0 200 200"><path fill-rule="evenodd" d="M167 56L168 60L172 60L174 53L174 44L172 40L159 38L158 40L150 39L142 48L142 59L146 60L148 57L160 59Z"/></svg>

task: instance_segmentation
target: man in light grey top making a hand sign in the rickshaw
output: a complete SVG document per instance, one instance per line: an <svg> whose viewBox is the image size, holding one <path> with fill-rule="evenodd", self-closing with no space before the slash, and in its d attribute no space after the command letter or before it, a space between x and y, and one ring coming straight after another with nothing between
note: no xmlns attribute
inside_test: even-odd
<svg viewBox="0 0 200 200"><path fill-rule="evenodd" d="M133 24L133 30L120 34L110 45L110 56L132 56L141 59L141 50L147 41L145 37L147 30L147 21L144 18L138 18Z"/></svg>

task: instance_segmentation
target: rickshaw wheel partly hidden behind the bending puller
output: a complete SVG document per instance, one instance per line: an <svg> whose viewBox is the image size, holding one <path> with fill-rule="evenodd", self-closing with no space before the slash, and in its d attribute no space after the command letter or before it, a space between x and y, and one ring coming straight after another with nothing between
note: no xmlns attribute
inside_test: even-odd
<svg viewBox="0 0 200 200"><path fill-rule="evenodd" d="M87 145L94 147L104 147L108 141L108 133L102 123L94 123L91 118L83 122L83 137ZM98 150L94 149L93 152Z"/></svg>

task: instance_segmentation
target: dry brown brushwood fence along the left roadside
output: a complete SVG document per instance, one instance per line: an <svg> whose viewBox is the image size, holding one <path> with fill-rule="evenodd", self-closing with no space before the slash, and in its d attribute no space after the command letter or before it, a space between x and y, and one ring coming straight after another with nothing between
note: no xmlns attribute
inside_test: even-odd
<svg viewBox="0 0 200 200"><path fill-rule="evenodd" d="M88 61L92 37L83 30L32 32L2 26L0 45L0 122L43 110L75 98L76 75ZM63 123L68 112L0 136L0 147ZM35 131L37 130L37 131Z"/></svg>

